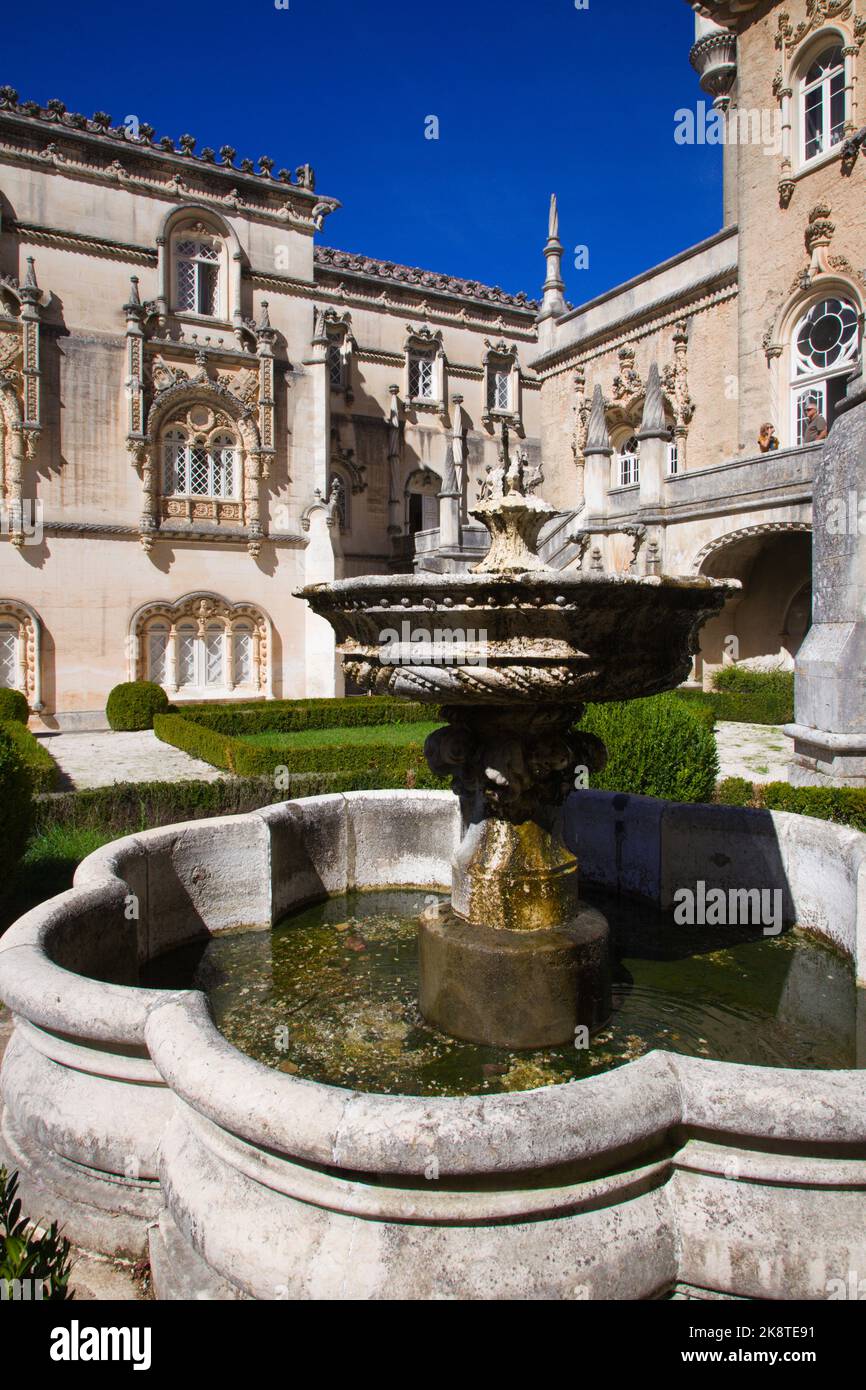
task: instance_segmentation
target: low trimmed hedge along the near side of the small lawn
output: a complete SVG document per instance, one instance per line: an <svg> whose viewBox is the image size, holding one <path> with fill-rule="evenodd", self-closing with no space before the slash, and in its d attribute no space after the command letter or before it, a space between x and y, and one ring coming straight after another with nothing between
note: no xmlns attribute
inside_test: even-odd
<svg viewBox="0 0 866 1390"><path fill-rule="evenodd" d="M427 714L430 717L430 708ZM185 714L157 714L153 727L163 742L239 777L274 780L279 776L281 788L285 787L285 773L339 773L343 780L361 777L368 785L381 788L446 785L430 771L421 741L396 748L385 744L260 748L209 728ZM346 785L339 790L353 788Z"/></svg>

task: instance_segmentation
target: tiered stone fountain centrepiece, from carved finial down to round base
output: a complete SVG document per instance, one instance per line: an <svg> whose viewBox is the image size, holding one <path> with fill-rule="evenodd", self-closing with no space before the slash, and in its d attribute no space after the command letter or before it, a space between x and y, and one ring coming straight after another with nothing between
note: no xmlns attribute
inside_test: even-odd
<svg viewBox="0 0 866 1390"><path fill-rule="evenodd" d="M424 752L452 778L464 833L450 906L420 923L420 1006L452 1037L506 1048L556 1047L610 1013L607 923L581 903L562 834L567 795L606 759L574 728L585 702L678 685L737 588L548 569L538 538L556 513L538 484L506 431L471 512L491 532L471 573L302 589L356 687L442 706Z"/></svg>

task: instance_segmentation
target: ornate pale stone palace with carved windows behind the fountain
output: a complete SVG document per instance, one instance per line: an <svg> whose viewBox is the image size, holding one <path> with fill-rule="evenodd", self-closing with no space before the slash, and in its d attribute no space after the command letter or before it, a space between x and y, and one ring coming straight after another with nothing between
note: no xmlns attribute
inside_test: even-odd
<svg viewBox="0 0 866 1390"><path fill-rule="evenodd" d="M723 132L724 225L578 307L555 207L532 302L318 245L339 204L309 165L0 89L0 684L47 727L133 676L329 694L293 591L474 562L503 436L544 468L549 563L744 580L696 678L731 637L795 652L805 409L833 417L862 343L859 6L694 6L671 139Z"/></svg>

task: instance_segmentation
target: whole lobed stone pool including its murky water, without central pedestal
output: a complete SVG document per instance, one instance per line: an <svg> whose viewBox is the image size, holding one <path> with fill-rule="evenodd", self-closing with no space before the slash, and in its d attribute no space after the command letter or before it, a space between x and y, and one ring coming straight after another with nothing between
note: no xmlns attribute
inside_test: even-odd
<svg viewBox="0 0 866 1390"><path fill-rule="evenodd" d="M584 884L612 894L617 990L609 1036L553 1077L532 1054L456 1066L405 1012L414 919L461 835L448 792L313 796L90 855L0 941L0 1162L25 1209L149 1251L160 1298L827 1297L866 1268L866 837L609 792L566 813ZM634 916L699 883L778 892L803 930ZM206 992L177 988L196 967Z"/></svg>

